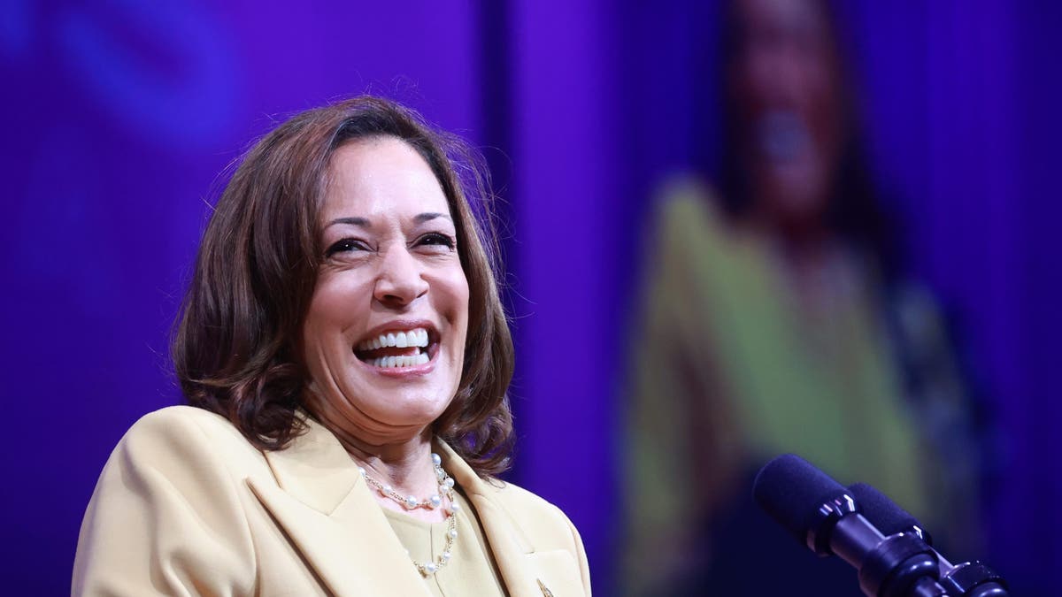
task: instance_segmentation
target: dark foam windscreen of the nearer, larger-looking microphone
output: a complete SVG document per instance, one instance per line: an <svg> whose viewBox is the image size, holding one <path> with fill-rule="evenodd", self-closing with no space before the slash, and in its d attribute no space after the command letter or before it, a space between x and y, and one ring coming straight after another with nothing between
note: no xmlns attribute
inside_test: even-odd
<svg viewBox="0 0 1062 597"><path fill-rule="evenodd" d="M819 507L844 492L833 477L794 454L765 464L752 485L756 504L801 544L807 541Z"/></svg>

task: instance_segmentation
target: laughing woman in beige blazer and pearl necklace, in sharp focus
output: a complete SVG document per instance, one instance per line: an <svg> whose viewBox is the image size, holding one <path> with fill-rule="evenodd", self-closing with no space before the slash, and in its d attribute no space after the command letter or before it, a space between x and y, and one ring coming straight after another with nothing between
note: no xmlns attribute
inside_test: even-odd
<svg viewBox="0 0 1062 597"><path fill-rule="evenodd" d="M361 97L249 152L174 339L198 408L119 443L73 594L589 594L567 517L494 477L513 353L464 148Z"/></svg>

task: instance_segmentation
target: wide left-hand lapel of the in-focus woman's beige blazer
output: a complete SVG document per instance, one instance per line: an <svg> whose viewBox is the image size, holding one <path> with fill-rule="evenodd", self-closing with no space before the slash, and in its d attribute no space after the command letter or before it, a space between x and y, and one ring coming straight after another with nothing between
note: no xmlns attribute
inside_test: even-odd
<svg viewBox="0 0 1062 597"><path fill-rule="evenodd" d="M288 448L266 453L276 482L247 478L251 490L331 593L430 595L346 450L306 423Z"/></svg>

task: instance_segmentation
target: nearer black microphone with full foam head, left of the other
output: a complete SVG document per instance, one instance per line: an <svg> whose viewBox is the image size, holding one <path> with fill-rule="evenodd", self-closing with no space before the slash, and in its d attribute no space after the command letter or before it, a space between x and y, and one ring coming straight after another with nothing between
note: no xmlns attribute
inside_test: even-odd
<svg viewBox="0 0 1062 597"><path fill-rule="evenodd" d="M852 493L803 458L787 454L756 475L753 497L768 515L820 556L859 570L863 594L946 595L933 550L914 533L886 536L861 514Z"/></svg>

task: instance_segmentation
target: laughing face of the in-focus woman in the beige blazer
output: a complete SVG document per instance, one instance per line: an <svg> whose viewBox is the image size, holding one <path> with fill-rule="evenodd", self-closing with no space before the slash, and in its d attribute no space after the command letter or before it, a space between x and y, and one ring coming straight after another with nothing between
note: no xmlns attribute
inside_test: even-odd
<svg viewBox="0 0 1062 597"><path fill-rule="evenodd" d="M455 223L428 164L399 139L343 146L329 174L303 327L309 406L363 442L409 439L461 379L468 282Z"/></svg>

